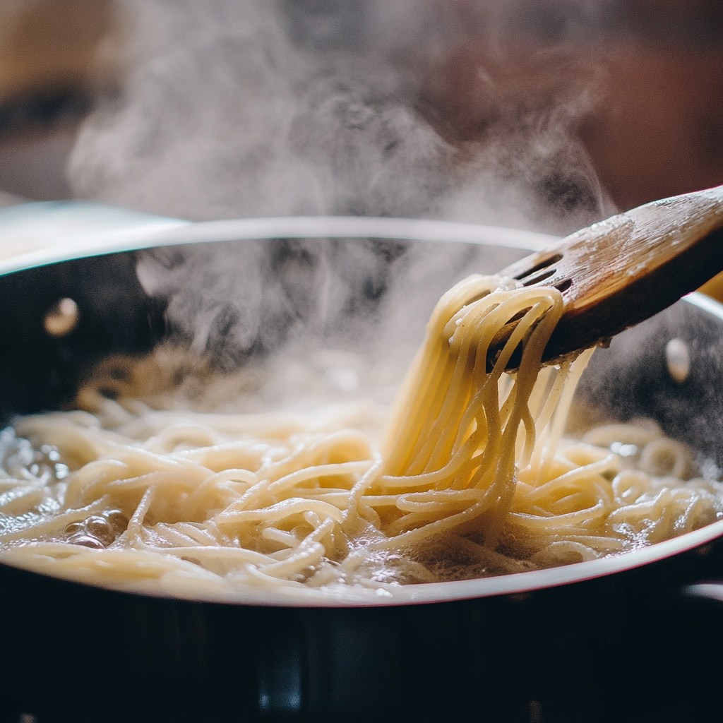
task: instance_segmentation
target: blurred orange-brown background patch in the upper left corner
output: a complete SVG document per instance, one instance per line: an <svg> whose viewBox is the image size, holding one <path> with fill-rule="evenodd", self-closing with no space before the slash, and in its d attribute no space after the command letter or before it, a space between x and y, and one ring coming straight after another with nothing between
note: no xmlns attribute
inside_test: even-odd
<svg viewBox="0 0 723 723"><path fill-rule="evenodd" d="M0 192L70 196L77 128L94 95L119 80L118 27L111 0L0 0Z"/></svg>

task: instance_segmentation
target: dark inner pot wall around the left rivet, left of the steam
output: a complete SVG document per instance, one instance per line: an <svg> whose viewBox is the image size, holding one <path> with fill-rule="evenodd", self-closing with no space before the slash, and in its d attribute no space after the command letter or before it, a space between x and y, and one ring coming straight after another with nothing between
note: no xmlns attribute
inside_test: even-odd
<svg viewBox="0 0 723 723"><path fill-rule="evenodd" d="M163 300L145 294L134 254L74 259L0 276L0 424L69 404L101 359L142 354L163 335ZM80 309L69 333L46 333L59 299Z"/></svg>

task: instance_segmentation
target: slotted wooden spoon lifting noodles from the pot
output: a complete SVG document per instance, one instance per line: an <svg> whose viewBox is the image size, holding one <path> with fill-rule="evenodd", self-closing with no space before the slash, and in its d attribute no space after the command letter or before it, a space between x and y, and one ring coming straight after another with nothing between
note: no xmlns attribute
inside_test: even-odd
<svg viewBox="0 0 723 723"><path fill-rule="evenodd" d="M565 311L543 356L543 361L554 361L604 346L720 271L723 186L646 203L599 221L500 274L523 286L562 291ZM495 338L490 361L514 326Z"/></svg>

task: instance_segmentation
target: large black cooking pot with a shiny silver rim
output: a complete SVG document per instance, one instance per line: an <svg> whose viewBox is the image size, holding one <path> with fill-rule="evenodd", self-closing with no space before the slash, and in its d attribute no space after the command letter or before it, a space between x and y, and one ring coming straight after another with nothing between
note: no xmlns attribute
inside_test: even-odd
<svg viewBox="0 0 723 723"><path fill-rule="evenodd" d="M192 308L221 317L201 340L221 371L321 343L391 354L390 337L380 349L364 330L385 330L388 310L402 309L398 374L442 291L549 240L307 218L100 234L33 252L0 267L0 414L66 405L111 354L169 335L200 348ZM53 335L43 320L62 298L80 315ZM269 306L277 339L244 316ZM683 383L664 361L674 337L690 349ZM607 416L654 417L723 467L722 389L723 307L693 294L596 352L579 393ZM0 565L0 721L712 719L719 665L701 653L722 636L723 587L711 582L721 536L723 521L618 557L333 601L164 599Z"/></svg>

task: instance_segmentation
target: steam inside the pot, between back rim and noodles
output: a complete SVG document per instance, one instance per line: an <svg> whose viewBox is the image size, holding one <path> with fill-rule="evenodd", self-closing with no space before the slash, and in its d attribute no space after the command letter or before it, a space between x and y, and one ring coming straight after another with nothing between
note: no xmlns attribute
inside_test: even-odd
<svg viewBox="0 0 723 723"><path fill-rule="evenodd" d="M388 402L440 296L522 255L453 242L224 241L140 252L137 273L166 300L174 346L226 373L223 393L194 392L198 408L249 411L344 393Z"/></svg>

